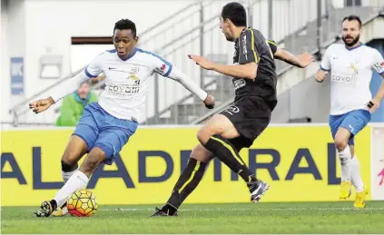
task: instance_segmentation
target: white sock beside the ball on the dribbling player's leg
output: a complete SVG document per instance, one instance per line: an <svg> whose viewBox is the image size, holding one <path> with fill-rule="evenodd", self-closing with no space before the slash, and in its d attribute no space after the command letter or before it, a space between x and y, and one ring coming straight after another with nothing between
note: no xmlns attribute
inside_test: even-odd
<svg viewBox="0 0 384 235"><path fill-rule="evenodd" d="M63 188L61 188L54 196L54 201L56 201L57 207L62 206L75 191L83 190L88 184L88 181L88 176L82 171L74 172L68 181L66 181Z"/></svg>

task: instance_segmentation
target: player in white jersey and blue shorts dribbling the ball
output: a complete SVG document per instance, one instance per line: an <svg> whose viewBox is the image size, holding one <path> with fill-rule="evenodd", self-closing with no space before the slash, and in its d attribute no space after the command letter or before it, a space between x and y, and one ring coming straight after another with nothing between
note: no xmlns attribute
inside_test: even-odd
<svg viewBox="0 0 384 235"><path fill-rule="evenodd" d="M160 73L182 83L207 108L213 108L212 95L208 95L189 77L158 55L137 48L137 41L135 24L128 19L118 21L113 28L114 50L97 56L82 73L66 81L57 93L30 103L34 113L41 113L65 95L73 93L81 83L99 73L105 74L105 88L99 102L85 107L65 148L62 157L64 186L56 193L54 200L41 204L40 210L35 212L36 216L50 216L63 207L74 191L86 187L89 177L100 163L112 164L114 157L136 131L153 73ZM87 152L88 155L79 168L77 162ZM65 208L59 214L64 215Z"/></svg>

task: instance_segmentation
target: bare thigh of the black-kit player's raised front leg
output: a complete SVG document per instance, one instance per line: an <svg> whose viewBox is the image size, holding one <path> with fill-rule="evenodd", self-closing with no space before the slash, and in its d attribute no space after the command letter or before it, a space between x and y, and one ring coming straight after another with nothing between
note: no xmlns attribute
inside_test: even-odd
<svg viewBox="0 0 384 235"><path fill-rule="evenodd" d="M209 122L205 123L197 132L197 138L200 142L206 143L215 134L220 134L227 139L240 136L231 120L223 114L215 114Z"/></svg>

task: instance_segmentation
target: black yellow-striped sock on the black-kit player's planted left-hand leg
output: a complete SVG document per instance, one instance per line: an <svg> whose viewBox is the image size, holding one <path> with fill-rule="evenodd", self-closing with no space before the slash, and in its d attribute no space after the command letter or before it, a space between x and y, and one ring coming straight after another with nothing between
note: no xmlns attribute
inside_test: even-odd
<svg viewBox="0 0 384 235"><path fill-rule="evenodd" d="M162 207L162 211L165 211L169 215L173 215L191 192L202 181L202 175L204 174L207 163L197 161L190 158L187 167L182 171L179 180L173 188L172 195L167 203Z"/></svg>

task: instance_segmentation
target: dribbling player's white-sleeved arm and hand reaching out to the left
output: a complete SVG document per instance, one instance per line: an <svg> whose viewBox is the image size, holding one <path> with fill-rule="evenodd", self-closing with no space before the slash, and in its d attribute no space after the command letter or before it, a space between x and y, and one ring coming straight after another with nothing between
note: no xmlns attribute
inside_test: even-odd
<svg viewBox="0 0 384 235"><path fill-rule="evenodd" d="M88 79L90 79L90 77L85 73L85 71L82 71L75 75L73 78L66 80L53 95L43 100L29 103L29 108L32 109L34 113L42 113L51 107L52 104L62 99L64 96L70 93L74 93L74 91L81 85L81 83L84 83Z"/></svg>

